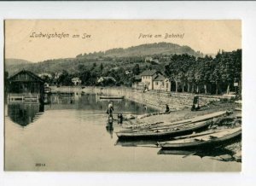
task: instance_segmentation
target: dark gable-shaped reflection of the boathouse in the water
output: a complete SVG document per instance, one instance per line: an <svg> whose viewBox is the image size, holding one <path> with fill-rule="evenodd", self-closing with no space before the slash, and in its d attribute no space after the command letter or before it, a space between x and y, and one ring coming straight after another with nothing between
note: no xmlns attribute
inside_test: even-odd
<svg viewBox="0 0 256 186"><path fill-rule="evenodd" d="M15 124L26 126L44 113L44 104L15 102L8 104L8 116Z"/></svg>

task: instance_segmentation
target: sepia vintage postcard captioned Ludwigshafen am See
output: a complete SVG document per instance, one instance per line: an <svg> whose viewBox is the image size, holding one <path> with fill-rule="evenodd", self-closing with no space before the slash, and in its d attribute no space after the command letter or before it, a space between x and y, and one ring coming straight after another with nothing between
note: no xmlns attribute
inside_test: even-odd
<svg viewBox="0 0 256 186"><path fill-rule="evenodd" d="M241 171L241 20L4 20L5 171Z"/></svg>

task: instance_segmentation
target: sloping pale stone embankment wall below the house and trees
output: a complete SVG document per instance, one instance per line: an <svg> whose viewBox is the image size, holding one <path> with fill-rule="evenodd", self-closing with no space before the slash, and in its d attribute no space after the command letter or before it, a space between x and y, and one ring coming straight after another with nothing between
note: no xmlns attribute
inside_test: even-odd
<svg viewBox="0 0 256 186"><path fill-rule="evenodd" d="M125 96L125 99L133 102L138 102L147 107L155 108L160 111L166 109L166 104L173 111L182 110L183 108L191 108L195 94L174 93L174 92L159 92L150 90L142 92L142 90L134 90L125 87L52 87L52 92L78 92L82 91L85 94L99 94L104 96ZM220 96L199 96L200 107L206 106L210 102L219 102Z"/></svg>

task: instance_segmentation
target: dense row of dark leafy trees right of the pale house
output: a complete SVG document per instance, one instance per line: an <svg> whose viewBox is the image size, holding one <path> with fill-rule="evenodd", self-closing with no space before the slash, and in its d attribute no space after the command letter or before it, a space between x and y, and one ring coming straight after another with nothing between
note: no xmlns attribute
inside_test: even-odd
<svg viewBox="0 0 256 186"><path fill-rule="evenodd" d="M173 55L165 73L175 91L219 94L241 88L241 49L212 56ZM239 84L238 88L234 83Z"/></svg>

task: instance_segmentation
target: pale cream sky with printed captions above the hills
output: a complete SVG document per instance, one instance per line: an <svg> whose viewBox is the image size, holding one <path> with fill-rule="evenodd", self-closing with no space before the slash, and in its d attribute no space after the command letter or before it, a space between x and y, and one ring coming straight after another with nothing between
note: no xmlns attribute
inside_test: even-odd
<svg viewBox="0 0 256 186"><path fill-rule="evenodd" d="M159 42L203 54L241 49L241 20L5 20L5 58L32 62Z"/></svg>

